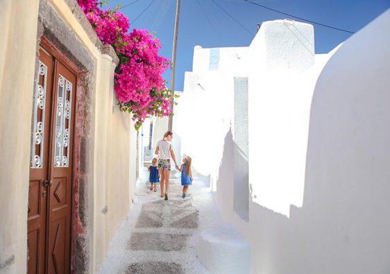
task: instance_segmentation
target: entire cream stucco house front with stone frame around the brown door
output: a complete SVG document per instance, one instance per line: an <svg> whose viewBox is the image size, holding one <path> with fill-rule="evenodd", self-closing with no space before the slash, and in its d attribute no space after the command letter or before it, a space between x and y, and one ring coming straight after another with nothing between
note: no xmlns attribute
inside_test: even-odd
<svg viewBox="0 0 390 274"><path fill-rule="evenodd" d="M74 207L84 217L73 221L80 222L74 223L78 232L85 230L85 239L76 239L76 245L86 253L76 254L81 257L73 266L83 264L78 271L92 273L103 262L135 189L136 162L131 153L136 151L136 132L130 117L119 111L113 92L117 57L101 44L74 0L28 1L28 5L6 0L1 2L0 14L0 148L4 156L0 165L0 272L26 272L31 107L37 37L44 35L74 66L90 73L78 79L87 83L80 83L78 92L83 95L77 97L82 101L77 102L75 118L84 116L76 121L80 144L75 148L80 152L75 159L82 163L75 171L77 176L79 172L85 175L74 182L80 187L76 198L83 197L74 201ZM82 48L74 51L74 44ZM107 50L112 57L105 54Z"/></svg>

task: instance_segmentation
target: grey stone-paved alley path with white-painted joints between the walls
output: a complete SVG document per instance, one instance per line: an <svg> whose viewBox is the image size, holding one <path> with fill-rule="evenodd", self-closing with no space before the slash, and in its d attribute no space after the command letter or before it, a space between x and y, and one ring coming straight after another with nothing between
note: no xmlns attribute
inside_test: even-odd
<svg viewBox="0 0 390 274"><path fill-rule="evenodd" d="M110 243L99 273L207 273L196 259L200 232L221 223L212 196L194 180L181 198L180 180L171 179L169 200L139 180L137 200Z"/></svg>

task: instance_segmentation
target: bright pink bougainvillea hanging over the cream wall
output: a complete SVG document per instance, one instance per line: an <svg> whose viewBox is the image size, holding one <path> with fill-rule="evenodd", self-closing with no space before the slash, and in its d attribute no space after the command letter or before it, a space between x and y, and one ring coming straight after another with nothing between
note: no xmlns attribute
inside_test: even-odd
<svg viewBox="0 0 390 274"><path fill-rule="evenodd" d="M128 33L128 18L117 10L101 10L96 0L78 0L80 8L103 44L111 44L119 57L115 71L115 93L122 111L133 114L139 128L146 117L171 114L171 91L162 74L169 67L160 56L160 41L149 31L133 29Z"/></svg>

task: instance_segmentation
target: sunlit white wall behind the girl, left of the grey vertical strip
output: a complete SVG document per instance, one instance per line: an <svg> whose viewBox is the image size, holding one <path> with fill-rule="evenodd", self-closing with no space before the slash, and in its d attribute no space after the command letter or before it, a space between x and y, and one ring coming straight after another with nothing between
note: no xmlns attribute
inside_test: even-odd
<svg viewBox="0 0 390 274"><path fill-rule="evenodd" d="M210 67L210 51L219 58ZM217 51L217 52L218 52ZM195 46L193 71L185 73L175 129L181 137L181 152L193 159L201 175L217 180L223 139L233 117L234 76L245 76L246 48L202 49ZM214 185L215 187L215 185Z"/></svg>

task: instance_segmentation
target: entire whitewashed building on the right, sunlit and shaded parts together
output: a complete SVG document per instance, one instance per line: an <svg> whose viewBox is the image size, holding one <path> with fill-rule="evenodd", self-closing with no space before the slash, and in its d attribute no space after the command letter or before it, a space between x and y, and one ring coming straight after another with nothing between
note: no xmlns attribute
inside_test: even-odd
<svg viewBox="0 0 390 274"><path fill-rule="evenodd" d="M250 271L389 273L389 71L390 10L328 54L290 20L195 46L174 128Z"/></svg>

